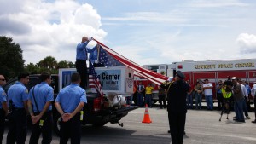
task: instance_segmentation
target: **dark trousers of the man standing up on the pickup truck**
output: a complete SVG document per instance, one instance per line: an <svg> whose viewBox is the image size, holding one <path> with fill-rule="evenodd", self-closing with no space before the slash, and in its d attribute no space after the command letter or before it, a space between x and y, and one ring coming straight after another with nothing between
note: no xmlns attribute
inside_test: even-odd
<svg viewBox="0 0 256 144"><path fill-rule="evenodd" d="M88 84L88 74L87 74L87 66L86 66L86 60L76 60L76 69L77 72L79 72L81 77L81 84L80 87L83 89L86 89Z"/></svg>

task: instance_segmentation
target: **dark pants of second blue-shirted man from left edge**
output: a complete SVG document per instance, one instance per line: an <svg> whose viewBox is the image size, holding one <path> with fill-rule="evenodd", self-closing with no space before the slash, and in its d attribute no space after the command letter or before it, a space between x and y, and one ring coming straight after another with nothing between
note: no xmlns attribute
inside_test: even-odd
<svg viewBox="0 0 256 144"><path fill-rule="evenodd" d="M13 108L9 117L9 132L6 144L25 144L26 141L26 110L24 108Z"/></svg>

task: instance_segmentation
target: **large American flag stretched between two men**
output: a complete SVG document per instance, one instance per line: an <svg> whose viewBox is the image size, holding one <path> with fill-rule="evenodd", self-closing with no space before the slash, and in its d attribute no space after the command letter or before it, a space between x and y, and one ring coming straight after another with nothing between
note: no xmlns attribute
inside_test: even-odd
<svg viewBox="0 0 256 144"><path fill-rule="evenodd" d="M168 77L161 75L160 73L150 71L143 66L139 66L137 63L125 58L123 55L119 55L113 49L108 48L106 45L98 42L101 45L99 53L99 61L105 66L128 66L134 70L134 74L143 78L147 78L154 84L160 85L166 81Z"/></svg>

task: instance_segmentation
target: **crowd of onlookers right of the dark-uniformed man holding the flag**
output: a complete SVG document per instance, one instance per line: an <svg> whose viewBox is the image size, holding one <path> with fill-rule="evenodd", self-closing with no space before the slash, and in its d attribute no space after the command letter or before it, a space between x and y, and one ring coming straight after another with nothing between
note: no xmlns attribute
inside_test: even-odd
<svg viewBox="0 0 256 144"><path fill-rule="evenodd" d="M189 84L189 81L187 81ZM194 88L194 89L192 89ZM247 84L245 80L241 78L232 77L225 82L222 80L218 81L215 86L218 111L230 111L233 108L236 112L234 120L238 122L245 122L245 118L250 119L248 112L252 112L250 105L250 97L254 97L255 101L255 88L256 84L252 88ZM212 92L213 85L209 83L208 79L204 82L196 82L195 86L190 85L190 89L187 94L187 108L188 109L201 109L202 95L205 95L207 102L207 110L213 109ZM191 92L192 91L192 92ZM193 105L193 99L195 98L195 107ZM254 102L255 103L255 102ZM244 113L244 114L243 114ZM256 118L256 113L255 113ZM256 121L253 120L253 123Z"/></svg>

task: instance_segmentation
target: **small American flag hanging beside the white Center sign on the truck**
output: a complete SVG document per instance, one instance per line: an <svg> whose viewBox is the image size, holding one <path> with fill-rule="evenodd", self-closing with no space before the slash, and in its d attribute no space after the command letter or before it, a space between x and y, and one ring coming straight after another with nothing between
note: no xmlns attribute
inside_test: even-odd
<svg viewBox="0 0 256 144"><path fill-rule="evenodd" d="M100 80L97 76L97 73L95 71L94 66L89 60L89 87L96 89L96 91L101 95L103 98L103 91L102 91L102 85L100 83Z"/></svg>

